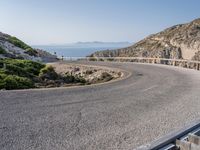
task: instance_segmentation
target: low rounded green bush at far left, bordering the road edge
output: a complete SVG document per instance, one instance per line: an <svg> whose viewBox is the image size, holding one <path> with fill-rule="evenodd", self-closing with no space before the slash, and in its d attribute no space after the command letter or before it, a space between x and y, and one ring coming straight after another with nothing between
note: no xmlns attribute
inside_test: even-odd
<svg viewBox="0 0 200 150"><path fill-rule="evenodd" d="M5 88L6 90L11 89L27 89L33 88L33 82L28 78L23 78L15 75L8 75L5 77L1 83L1 88Z"/></svg>

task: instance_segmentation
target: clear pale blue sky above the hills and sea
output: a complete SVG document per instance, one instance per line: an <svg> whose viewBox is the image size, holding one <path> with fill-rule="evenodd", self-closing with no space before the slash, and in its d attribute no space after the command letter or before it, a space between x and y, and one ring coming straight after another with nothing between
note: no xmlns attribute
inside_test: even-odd
<svg viewBox="0 0 200 150"><path fill-rule="evenodd" d="M0 31L28 44L136 42L200 17L200 0L0 0Z"/></svg>

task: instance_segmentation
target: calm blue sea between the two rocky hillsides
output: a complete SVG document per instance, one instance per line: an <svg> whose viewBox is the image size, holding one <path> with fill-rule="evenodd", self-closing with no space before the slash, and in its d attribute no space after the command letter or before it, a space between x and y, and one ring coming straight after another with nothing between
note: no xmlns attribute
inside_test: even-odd
<svg viewBox="0 0 200 150"><path fill-rule="evenodd" d="M46 50L52 54L56 52L57 56L64 57L85 57L99 50L107 50L107 49L117 49L119 47L99 47L99 48L80 48L80 47L62 47L62 46L33 46L34 48L39 48Z"/></svg>

